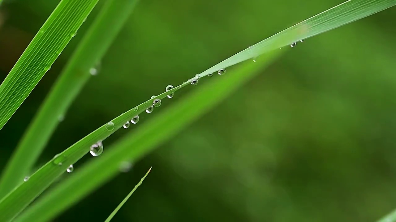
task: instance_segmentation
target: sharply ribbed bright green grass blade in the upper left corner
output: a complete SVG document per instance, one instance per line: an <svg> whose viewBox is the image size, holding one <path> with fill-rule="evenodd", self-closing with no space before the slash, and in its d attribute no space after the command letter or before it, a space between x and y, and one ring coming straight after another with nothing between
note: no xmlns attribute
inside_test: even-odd
<svg viewBox="0 0 396 222"><path fill-rule="evenodd" d="M0 129L29 96L98 0L61 0L0 85Z"/></svg>

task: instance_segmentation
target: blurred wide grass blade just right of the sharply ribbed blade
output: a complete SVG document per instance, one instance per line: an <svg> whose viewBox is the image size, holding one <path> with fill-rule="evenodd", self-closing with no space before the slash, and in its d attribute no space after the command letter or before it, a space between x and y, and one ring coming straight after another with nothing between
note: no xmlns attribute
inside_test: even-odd
<svg viewBox="0 0 396 222"><path fill-rule="evenodd" d="M103 58L136 2L137 0L107 0L103 5L3 172L0 180L0 198L28 175L55 130L59 117L66 113L91 77L90 68Z"/></svg>

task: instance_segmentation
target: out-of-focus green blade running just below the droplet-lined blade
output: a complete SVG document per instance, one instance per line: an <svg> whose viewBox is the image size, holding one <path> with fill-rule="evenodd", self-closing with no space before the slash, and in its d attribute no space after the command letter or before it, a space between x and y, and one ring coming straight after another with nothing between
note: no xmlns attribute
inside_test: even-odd
<svg viewBox="0 0 396 222"><path fill-rule="evenodd" d="M132 135L127 135L118 141L105 151L101 158L92 159L85 167L76 169L73 172L74 175L38 199L16 221L29 222L31 218L36 218L36 222L45 222L53 219L119 173L121 162L137 160L152 151L157 145L177 134L227 98L230 93L257 75L259 70L268 66L275 58L276 55L263 55L256 63L244 64L234 71L229 71L232 72L230 75L213 79L207 85L201 86L199 90L190 92L160 115L139 126ZM100 173L97 173L97 169L101 169ZM92 173L93 170L95 173Z"/></svg>

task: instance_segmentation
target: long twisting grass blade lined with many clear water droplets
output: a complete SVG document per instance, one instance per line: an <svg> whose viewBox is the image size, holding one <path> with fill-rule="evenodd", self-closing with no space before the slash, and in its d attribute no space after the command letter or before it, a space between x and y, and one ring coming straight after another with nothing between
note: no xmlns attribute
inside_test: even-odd
<svg viewBox="0 0 396 222"><path fill-rule="evenodd" d="M362 4L364 2L365 4ZM248 49L231 56L227 60L213 66L212 68L204 71L200 75L197 75L196 77L193 77L192 79L189 79L187 82L183 83L182 85L179 85L178 87L175 87L167 92L164 92L150 100L147 100L147 102L144 102L137 107L127 111L126 113L120 115L119 117L113 119L109 123L103 125L101 128L95 130L91 134L87 135L71 147L69 147L67 150L63 151L61 154L57 155L53 160L48 162L46 165L44 165L42 168L40 168L36 173L30 177L29 181L24 182L21 184L19 187L17 187L13 192L8 194L2 201L0 202L0 211L4 212L9 212L12 214L12 211L15 211L14 209L21 210L24 207L26 207L27 204L29 204L36 196L38 196L46 187L48 187L53 180L61 175L69 166L70 164L73 164L76 162L78 159L80 159L82 156L84 156L87 152L89 152L89 147L92 144L97 143L98 141L103 141L105 138L107 138L109 135L111 135L115 130L118 130L119 128L122 127L122 125L132 117L135 117L139 113L143 112L145 109L148 107L152 106L152 103L156 99L163 99L166 96L168 96L171 93L174 93L175 91L179 90L181 87L185 87L187 85L190 85L192 82L198 81L198 79L209 75L212 71L217 71L219 68L226 68L227 66L236 64L238 62L254 58L256 56L259 56L262 53L268 52L268 51L273 51L274 49L277 49L280 46L288 45L294 41L303 39L303 38L308 38L310 36L314 36L316 34L320 34L322 32L325 32L327 30L331 30L333 28L336 28L338 26L341 26L343 24L350 23L352 21L355 21L357 19L360 19L362 17L366 17L372 13L375 13L377 11L381 11L383 9L389 8L395 4L396 0L382 0L382 1L375 1L375 0L350 0L347 1L344 4L341 4L339 6L336 6L334 8L331 8L327 10L324 13L321 13L319 15L316 15L310 19L307 19L303 21L302 23L299 23L295 26L292 26L291 28L284 30L274 36L271 36L268 38L268 40L263 40L260 43L257 43L253 45L252 47L249 47ZM315 24L316 23L316 24ZM323 28L324 27L324 28ZM309 33L309 34L306 34ZM256 66L257 67L257 66ZM251 70L252 71L252 70ZM237 83L233 83L235 85L238 85ZM232 86L228 86L229 88L233 88ZM209 90L210 91L210 90ZM217 93L217 92L213 92ZM201 94L204 94L201 92ZM224 94L221 94L224 95ZM210 95L211 97L218 98L217 96L213 96L212 94ZM208 100L208 98L204 98L204 100ZM199 99L197 99L199 100ZM199 100L199 101L202 101ZM210 100L212 101L212 100ZM194 101L192 101L194 102ZM208 103L204 103L207 104ZM211 103L210 103L211 104ZM185 107L181 107L185 108ZM190 113L190 115L194 115L194 112L201 112L202 109L205 109L206 107L200 107L200 109L188 112L186 110L185 113ZM188 108L185 108L188 109ZM185 122L188 122L188 117L185 117L185 114L180 114L179 116L173 116L173 114L168 113L169 117L172 118L165 118L166 124L170 124L172 121L175 121L175 119L183 119L185 118ZM163 122L165 120L159 121ZM181 121L181 122L183 122ZM158 123L157 123L158 124ZM150 127L155 128L155 124L152 124L151 126L146 126L145 128L142 129L143 132L150 131ZM152 148L151 145L154 145L154 142L160 141L162 139L168 138L170 135L173 135L171 129L167 129L162 131L161 135L158 135L158 140L152 141L152 136L153 135L142 135L142 134L137 134L135 137L137 137L137 144L141 143L140 146L147 146L145 149L135 151L135 149L129 149L130 152L137 152L137 154L145 153L148 152L149 148ZM156 132L156 131L154 131ZM139 136L141 136L139 138ZM129 152L128 151L128 152ZM118 160L122 158L125 154L120 154L118 156ZM132 156L132 155L131 155ZM102 158L103 159L103 158ZM59 166L59 163L63 163L63 165ZM108 169L109 167L106 167ZM105 171L101 171L101 174L103 174ZM88 181L86 181L88 182ZM90 181L89 181L90 182ZM58 203L59 204L59 203ZM9 209L10 206L13 208ZM37 211L37 210L36 210ZM34 212L34 211L33 211ZM7 215L7 214L6 214ZM35 218L35 217L34 217Z"/></svg>

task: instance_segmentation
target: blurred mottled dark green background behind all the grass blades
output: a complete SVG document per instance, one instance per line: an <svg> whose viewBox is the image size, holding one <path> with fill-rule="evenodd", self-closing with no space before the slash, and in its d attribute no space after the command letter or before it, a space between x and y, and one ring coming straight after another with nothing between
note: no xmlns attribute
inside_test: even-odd
<svg viewBox="0 0 396 222"><path fill-rule="evenodd" d="M0 81L58 2L2 4ZM103 2L0 131L0 167ZM141 0L37 167L166 85L179 85L341 2ZM150 166L114 221L368 222L385 215L396 208L395 20L396 8L390 8L298 43L216 109L54 221L105 220ZM141 115L139 124L204 82L164 100L154 113ZM105 152L139 124L109 137Z"/></svg>

